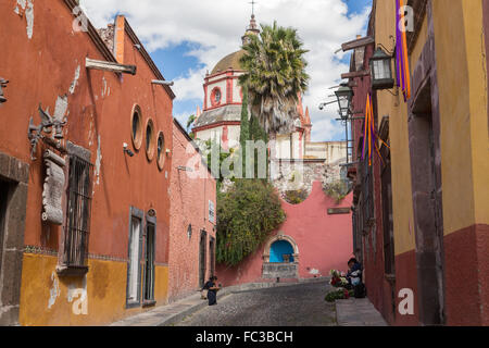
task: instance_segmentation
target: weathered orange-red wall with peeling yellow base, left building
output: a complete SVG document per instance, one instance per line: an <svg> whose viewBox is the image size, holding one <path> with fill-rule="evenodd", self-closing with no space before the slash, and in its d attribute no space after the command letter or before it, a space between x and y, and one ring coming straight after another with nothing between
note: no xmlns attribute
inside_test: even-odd
<svg viewBox="0 0 489 348"><path fill-rule="evenodd" d="M143 125L149 117L155 130L165 135L166 147L172 148L172 97L161 86L152 86L154 73L134 42L125 35L125 50L118 47L117 55L125 64L137 65L137 75L118 76L102 71L85 69L85 58L108 60L88 33L73 29L74 17L64 1L33 2L34 26L32 36L26 35L26 17L15 10L16 1L0 3L0 45L5 47L0 57L2 76L11 80L9 101L0 107L2 119L9 125L0 128L0 150L30 165L28 179L25 245L39 249L39 256L25 254L22 283L21 323L36 325L102 323L141 311L124 311L126 294L126 264L128 258L129 208L147 212L156 211L156 288L158 303L166 300L166 268L170 234L170 178L171 158L163 171L155 160L149 162L145 150L136 151L131 145L130 115L137 103L142 110ZM121 23L118 21L117 23ZM7 33L10 33L7 35ZM123 33L124 29L123 29ZM35 73L33 73L35 72ZM88 311L76 320L68 320L72 303L57 302L58 309L48 309L51 274L55 266L61 227L41 224L41 194L45 177L41 142L38 160L30 160L27 129L30 116L39 124L39 103L51 114L66 110L65 140L79 145L91 152L93 167L93 199L89 237L89 265L87 275L88 299L97 302L99 291L105 288L101 312ZM127 142L135 152L129 158L123 152ZM103 273L93 259L117 260L106 262L110 271ZM32 262L33 261L33 262ZM99 273L99 271L101 273ZM106 282L104 275L114 276ZM64 282L64 281L63 281ZM79 283L80 279L66 279ZM62 283L62 282L60 282ZM37 288L39 291L33 291ZM41 290L42 289L42 290ZM63 291L63 289L62 289ZM65 296L65 295L63 295ZM90 308L89 308L90 309ZM103 312L103 313L102 313ZM98 316L100 315L100 316Z"/></svg>

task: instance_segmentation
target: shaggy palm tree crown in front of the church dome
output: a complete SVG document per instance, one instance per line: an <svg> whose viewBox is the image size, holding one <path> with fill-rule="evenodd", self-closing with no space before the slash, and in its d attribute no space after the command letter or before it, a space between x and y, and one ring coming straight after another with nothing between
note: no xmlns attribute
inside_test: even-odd
<svg viewBox="0 0 489 348"><path fill-rule="evenodd" d="M303 44L297 29L262 25L260 35L248 35L240 60L247 72L239 82L248 89L251 112L272 136L289 134L297 117L299 94L308 89Z"/></svg>

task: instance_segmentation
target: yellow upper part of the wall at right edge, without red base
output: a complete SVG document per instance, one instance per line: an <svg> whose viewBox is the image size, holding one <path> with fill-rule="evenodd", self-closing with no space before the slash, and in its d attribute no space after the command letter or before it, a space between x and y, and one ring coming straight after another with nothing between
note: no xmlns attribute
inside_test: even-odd
<svg viewBox="0 0 489 348"><path fill-rule="evenodd" d="M434 1L444 234L489 223L487 67L481 1ZM451 42L457 42L453 46ZM456 98L453 98L456 96ZM463 185L461 185L461 183Z"/></svg>

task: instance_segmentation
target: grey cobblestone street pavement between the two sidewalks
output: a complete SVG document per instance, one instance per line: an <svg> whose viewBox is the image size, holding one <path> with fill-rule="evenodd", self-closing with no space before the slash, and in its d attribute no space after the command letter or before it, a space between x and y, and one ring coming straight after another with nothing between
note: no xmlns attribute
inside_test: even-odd
<svg viewBox="0 0 489 348"><path fill-rule="evenodd" d="M335 303L324 300L326 282L233 294L175 326L331 326Z"/></svg>

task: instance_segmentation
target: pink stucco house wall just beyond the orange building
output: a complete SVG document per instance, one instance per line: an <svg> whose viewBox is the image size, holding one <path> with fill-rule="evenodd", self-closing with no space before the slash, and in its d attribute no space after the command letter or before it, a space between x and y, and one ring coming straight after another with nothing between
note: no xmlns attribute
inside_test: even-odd
<svg viewBox="0 0 489 348"><path fill-rule="evenodd" d="M196 294L199 288L200 232L206 231L205 279L211 275L210 238L215 238L209 221L209 201L216 207L216 183L201 162L199 152L174 123L171 182L171 226L168 256L168 300ZM178 169L180 167L180 169ZM188 172L181 167L191 167ZM199 177L196 177L199 176ZM202 176L206 176L203 178ZM192 225L190 239L188 225Z"/></svg>

